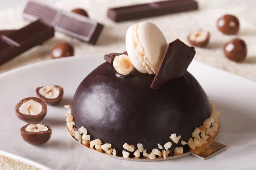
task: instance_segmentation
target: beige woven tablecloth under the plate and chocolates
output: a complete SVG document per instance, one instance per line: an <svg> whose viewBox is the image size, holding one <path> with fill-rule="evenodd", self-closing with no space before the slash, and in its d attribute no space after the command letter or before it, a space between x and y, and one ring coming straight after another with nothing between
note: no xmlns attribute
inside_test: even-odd
<svg viewBox="0 0 256 170"><path fill-rule="evenodd" d="M132 20L123 23L114 23L106 17L108 7L121 6L133 3L152 2L155 0L61 0L55 4L58 8L71 10L84 8L90 18L105 25L97 45L89 45L75 38L56 33L55 37L43 45L32 48L10 62L0 66L0 74L35 62L50 59L50 51L58 42L67 41L74 45L75 54L86 56L97 53L110 53L125 51L125 33L129 26L141 21L155 23L166 36L168 42L179 38L186 40L190 31L204 28L211 33L207 48L196 48L195 59L234 74L256 80L256 11L255 0L198 0L200 10L179 14L170 14L161 17L151 17L143 20ZM0 11L0 28L20 28L28 23L21 17L23 8L6 9ZM216 28L218 17L223 14L235 14L240 20L240 31L236 36L221 34ZM244 62L232 62L224 57L222 47L228 40L240 37L247 43L248 53ZM102 57L103 58L103 57ZM0 170L19 169L30 170L30 166L0 156Z"/></svg>

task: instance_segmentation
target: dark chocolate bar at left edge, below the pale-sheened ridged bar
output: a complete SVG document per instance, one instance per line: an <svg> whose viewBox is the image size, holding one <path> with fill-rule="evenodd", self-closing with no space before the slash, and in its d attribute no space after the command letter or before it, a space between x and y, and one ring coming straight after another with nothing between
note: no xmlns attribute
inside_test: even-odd
<svg viewBox="0 0 256 170"><path fill-rule="evenodd" d="M0 40L0 65L53 36L54 28L40 20L3 35Z"/></svg>

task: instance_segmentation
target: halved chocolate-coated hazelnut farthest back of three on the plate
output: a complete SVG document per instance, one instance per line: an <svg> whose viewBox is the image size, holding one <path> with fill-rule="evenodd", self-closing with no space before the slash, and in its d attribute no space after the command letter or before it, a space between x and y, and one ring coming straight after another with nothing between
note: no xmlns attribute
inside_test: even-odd
<svg viewBox="0 0 256 170"><path fill-rule="evenodd" d="M63 88L58 85L46 85L35 90L38 98L44 100L48 105L57 105L63 98Z"/></svg>

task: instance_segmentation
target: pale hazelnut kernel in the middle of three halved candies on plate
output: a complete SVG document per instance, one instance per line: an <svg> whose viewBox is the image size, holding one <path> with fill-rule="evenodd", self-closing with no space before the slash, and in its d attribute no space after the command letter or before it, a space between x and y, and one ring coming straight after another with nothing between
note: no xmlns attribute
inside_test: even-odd
<svg viewBox="0 0 256 170"><path fill-rule="evenodd" d="M26 115L38 115L42 111L42 105L39 102L30 99L20 105L19 111Z"/></svg>

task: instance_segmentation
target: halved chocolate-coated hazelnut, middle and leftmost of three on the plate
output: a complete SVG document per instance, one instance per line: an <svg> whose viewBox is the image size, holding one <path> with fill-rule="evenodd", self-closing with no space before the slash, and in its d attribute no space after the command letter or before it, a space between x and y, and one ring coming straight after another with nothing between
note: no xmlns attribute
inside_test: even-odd
<svg viewBox="0 0 256 170"><path fill-rule="evenodd" d="M39 122L47 113L47 104L36 97L28 97L17 103L15 113L24 122Z"/></svg>

